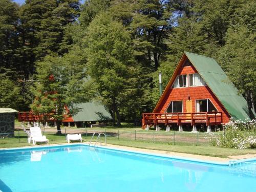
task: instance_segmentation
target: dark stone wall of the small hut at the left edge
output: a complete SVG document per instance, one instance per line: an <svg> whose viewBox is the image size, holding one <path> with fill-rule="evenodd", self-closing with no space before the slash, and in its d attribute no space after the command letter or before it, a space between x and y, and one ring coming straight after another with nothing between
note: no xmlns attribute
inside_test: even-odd
<svg viewBox="0 0 256 192"><path fill-rule="evenodd" d="M0 137L12 136L14 133L14 113L0 113Z"/></svg>

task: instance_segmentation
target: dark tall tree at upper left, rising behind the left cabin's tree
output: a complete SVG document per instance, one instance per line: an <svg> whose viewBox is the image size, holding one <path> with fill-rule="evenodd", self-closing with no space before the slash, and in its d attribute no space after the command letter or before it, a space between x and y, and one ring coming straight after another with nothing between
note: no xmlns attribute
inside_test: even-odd
<svg viewBox="0 0 256 192"><path fill-rule="evenodd" d="M26 78L34 73L36 60L51 52L63 54L60 45L65 27L75 22L78 11L78 0L27 0L21 7L19 30L23 47L20 58L25 65Z"/></svg>

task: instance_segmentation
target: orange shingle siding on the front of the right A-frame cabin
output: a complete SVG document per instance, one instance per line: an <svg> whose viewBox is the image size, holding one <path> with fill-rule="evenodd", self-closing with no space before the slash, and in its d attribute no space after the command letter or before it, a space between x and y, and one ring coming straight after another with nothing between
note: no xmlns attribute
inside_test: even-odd
<svg viewBox="0 0 256 192"><path fill-rule="evenodd" d="M193 66L187 66L179 70L178 75L197 73L196 69ZM156 113L165 113L170 101L183 100L183 113L186 112L186 100L192 100L193 112L196 112L196 100L198 99L210 99L212 104L215 105L218 111L223 112L223 123L229 121L229 114L223 107L223 105L216 98L214 93L209 89L208 86L199 86L199 87L185 87L185 88L169 88L167 94L163 98L162 102L159 105Z"/></svg>

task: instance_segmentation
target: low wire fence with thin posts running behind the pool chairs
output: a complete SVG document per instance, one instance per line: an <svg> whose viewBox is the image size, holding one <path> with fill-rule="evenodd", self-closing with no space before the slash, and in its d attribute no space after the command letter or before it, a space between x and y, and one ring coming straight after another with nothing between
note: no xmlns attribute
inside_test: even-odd
<svg viewBox="0 0 256 192"><path fill-rule="evenodd" d="M29 129L28 129L29 130ZM111 141L137 141L137 142L150 142L150 143L166 143L172 145L207 145L209 142L205 132L178 132L178 131L144 131L144 130L131 130L122 131L121 129L93 129L93 128L78 128L67 129L62 128L61 133L56 134L56 128L41 128L42 135L49 139L50 143L65 143L67 134L81 134L83 141L90 141L93 133L105 133L107 142ZM92 138L96 141L98 134ZM102 135L101 135L102 137ZM0 147L1 144L6 142L14 143L28 143L28 135L23 131L15 131L14 133L0 134Z"/></svg>

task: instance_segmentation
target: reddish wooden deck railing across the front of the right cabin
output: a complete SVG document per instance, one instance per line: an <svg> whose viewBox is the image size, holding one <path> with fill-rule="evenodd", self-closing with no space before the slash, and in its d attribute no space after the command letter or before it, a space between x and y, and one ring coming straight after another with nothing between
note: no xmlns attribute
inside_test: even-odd
<svg viewBox="0 0 256 192"><path fill-rule="evenodd" d="M200 113L143 113L142 126L170 124L206 124L219 125L223 122L222 112Z"/></svg>

